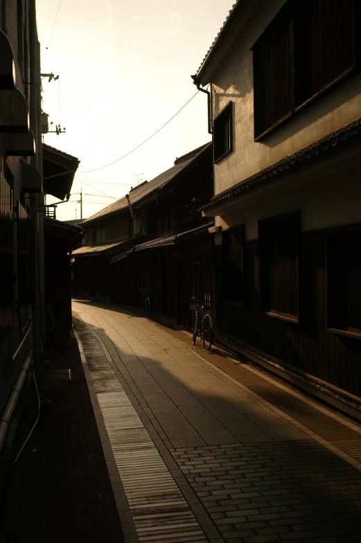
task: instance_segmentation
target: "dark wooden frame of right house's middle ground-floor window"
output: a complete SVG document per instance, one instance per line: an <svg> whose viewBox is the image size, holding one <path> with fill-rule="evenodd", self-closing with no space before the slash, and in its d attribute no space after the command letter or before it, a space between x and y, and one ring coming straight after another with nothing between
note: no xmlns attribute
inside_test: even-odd
<svg viewBox="0 0 361 543"><path fill-rule="evenodd" d="M282 312L280 310L276 310L276 309L265 309L263 308L264 307L264 294L263 294L263 279L262 279L262 276L263 276L263 258L264 258L264 249L263 249L263 240L262 240L262 233L260 235L260 228L259 226L260 225L263 225L265 223L276 223L276 222L284 222L285 220L287 219L292 219L292 220L295 220L297 221L298 225L297 225L297 232L296 232L296 236L297 236L297 239L296 239L296 274L297 274L297 277L296 277L296 289L297 289L297 314L291 314L291 313L286 313L286 312ZM258 220L258 251L259 251L259 277L260 277L260 313L261 314L265 314L267 315L268 317L273 317L273 318L276 318L276 319L281 319L283 321L290 321L290 322L293 322L293 323L299 323L299 252L300 252L300 246L301 246L301 212L299 210L297 211L290 211L289 213L283 213L281 215L274 215L272 217L265 217L264 219L261 219L261 220ZM278 274L279 274L279 270L278 270L278 263L277 263L277 281L278 281ZM277 292L277 297L279 296L279 292Z"/></svg>

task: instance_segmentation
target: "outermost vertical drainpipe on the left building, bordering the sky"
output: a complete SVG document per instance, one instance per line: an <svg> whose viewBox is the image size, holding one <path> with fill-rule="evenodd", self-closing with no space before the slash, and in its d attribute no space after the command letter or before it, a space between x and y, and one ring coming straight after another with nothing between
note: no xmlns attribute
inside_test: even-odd
<svg viewBox="0 0 361 543"><path fill-rule="evenodd" d="M43 154L42 154L42 80L40 77L40 43L37 41L37 169L43 181ZM45 249L44 249L44 194L39 194L39 310L40 310L40 337L45 345Z"/></svg>

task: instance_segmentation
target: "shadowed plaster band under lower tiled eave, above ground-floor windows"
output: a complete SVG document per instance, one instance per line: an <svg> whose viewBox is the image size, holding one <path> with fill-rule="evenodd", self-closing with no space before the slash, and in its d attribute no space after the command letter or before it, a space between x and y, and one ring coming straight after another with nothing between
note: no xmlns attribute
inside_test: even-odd
<svg viewBox="0 0 361 543"><path fill-rule="evenodd" d="M337 173L294 190L270 194L254 204L218 217L224 229L245 224L246 240L258 238L258 220L289 211L301 210L303 232L361 223L361 168Z"/></svg>

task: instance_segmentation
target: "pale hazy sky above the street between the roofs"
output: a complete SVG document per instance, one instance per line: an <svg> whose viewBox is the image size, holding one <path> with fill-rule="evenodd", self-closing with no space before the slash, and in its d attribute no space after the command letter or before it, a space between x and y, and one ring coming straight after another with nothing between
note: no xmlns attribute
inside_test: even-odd
<svg viewBox="0 0 361 543"><path fill-rule="evenodd" d="M197 91L191 80L231 9L232 0L37 0L42 45L43 109L66 134L45 143L80 159L71 200L83 192L83 217L153 179L210 141L206 95L189 105L139 150L108 168L164 125ZM49 42L49 37L51 40ZM49 49L46 46L49 44ZM96 190L98 189L98 190ZM91 195L89 195L91 194ZM94 196L95 195L95 196ZM48 203L55 202L48 197ZM93 203L91 203L93 202ZM80 218L75 202L57 218Z"/></svg>

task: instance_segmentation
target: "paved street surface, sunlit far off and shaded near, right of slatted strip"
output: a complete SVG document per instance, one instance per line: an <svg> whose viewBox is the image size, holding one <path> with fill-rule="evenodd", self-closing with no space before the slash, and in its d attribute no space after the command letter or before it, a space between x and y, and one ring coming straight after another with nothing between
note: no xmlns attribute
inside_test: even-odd
<svg viewBox="0 0 361 543"><path fill-rule="evenodd" d="M107 349L105 358L98 342L88 357L98 395L110 392L110 361L114 398L133 404L210 542L361 540L361 471L311 438L338 440L357 459L357 428L231 359L195 351L179 332L109 306L76 307ZM111 424L121 411L113 415ZM128 463L125 455L120 474Z"/></svg>

